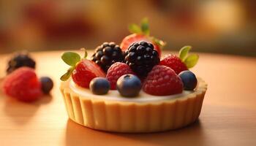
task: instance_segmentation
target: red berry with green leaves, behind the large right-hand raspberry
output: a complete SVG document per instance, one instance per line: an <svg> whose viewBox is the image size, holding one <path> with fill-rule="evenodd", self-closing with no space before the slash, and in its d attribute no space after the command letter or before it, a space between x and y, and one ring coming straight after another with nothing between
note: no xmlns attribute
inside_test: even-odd
<svg viewBox="0 0 256 146"><path fill-rule="evenodd" d="M159 65L168 66L173 69L176 74L182 71L192 68L197 64L198 55L191 54L187 56L187 53L191 49L190 46L182 47L179 52L179 57L177 55L166 55L159 63Z"/></svg>

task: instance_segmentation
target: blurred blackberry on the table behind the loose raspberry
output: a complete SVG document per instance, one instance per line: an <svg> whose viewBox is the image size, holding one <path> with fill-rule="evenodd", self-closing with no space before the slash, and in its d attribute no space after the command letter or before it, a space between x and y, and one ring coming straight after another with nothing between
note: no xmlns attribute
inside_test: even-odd
<svg viewBox="0 0 256 146"><path fill-rule="evenodd" d="M22 66L28 66L32 69L35 68L36 62L30 57L28 53L17 53L15 54L10 61L8 61L7 74L15 71Z"/></svg>

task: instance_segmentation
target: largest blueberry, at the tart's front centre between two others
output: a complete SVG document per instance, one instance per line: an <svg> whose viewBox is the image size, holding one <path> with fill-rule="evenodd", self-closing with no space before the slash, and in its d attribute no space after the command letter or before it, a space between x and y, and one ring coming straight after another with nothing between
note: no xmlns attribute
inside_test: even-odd
<svg viewBox="0 0 256 146"><path fill-rule="evenodd" d="M124 74L118 78L116 88L125 97L138 96L141 89L141 82L138 77L133 74Z"/></svg>

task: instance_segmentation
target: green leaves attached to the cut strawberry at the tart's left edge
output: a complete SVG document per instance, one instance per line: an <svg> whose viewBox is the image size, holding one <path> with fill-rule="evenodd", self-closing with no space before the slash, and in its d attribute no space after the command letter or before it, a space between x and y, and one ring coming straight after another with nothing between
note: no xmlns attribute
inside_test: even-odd
<svg viewBox="0 0 256 146"><path fill-rule="evenodd" d="M84 56L83 58L87 57L87 52L85 48L82 48L81 50L84 50ZM78 53L74 52L65 52L61 55L62 61L64 61L67 65L69 65L69 69L67 69L67 72L61 76L62 81L66 81L69 79L70 75L75 69L76 64L80 62L83 58L80 57Z"/></svg>

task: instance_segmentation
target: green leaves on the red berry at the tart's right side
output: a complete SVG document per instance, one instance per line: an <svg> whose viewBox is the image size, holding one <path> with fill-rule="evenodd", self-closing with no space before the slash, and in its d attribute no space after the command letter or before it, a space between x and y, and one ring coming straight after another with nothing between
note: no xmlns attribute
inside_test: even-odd
<svg viewBox="0 0 256 146"><path fill-rule="evenodd" d="M181 61L186 64L187 68L192 68L197 64L197 61L199 59L199 55L197 54L189 54L189 50L191 50L191 46L184 46L179 50L178 57L181 59Z"/></svg>

